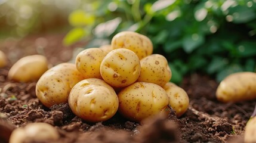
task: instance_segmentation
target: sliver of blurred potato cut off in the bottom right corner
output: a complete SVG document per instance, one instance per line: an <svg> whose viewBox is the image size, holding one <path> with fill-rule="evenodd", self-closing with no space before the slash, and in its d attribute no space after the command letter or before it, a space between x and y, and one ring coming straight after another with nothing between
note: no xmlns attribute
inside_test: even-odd
<svg viewBox="0 0 256 143"><path fill-rule="evenodd" d="M256 142L256 117L251 117L245 126L245 143Z"/></svg>

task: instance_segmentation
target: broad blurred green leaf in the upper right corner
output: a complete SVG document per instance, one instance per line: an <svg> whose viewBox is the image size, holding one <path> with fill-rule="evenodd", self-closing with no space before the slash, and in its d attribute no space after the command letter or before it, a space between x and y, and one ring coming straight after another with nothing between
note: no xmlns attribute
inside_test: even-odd
<svg viewBox="0 0 256 143"><path fill-rule="evenodd" d="M234 23L247 23L256 17L255 11L246 5L229 8L229 11Z"/></svg>

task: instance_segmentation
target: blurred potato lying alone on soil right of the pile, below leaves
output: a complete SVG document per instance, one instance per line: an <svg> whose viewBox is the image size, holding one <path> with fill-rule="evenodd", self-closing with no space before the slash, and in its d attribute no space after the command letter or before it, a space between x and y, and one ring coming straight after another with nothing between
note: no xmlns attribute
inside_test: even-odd
<svg viewBox="0 0 256 143"><path fill-rule="evenodd" d="M216 97L221 102L238 102L256 99L256 73L238 72L220 82Z"/></svg>

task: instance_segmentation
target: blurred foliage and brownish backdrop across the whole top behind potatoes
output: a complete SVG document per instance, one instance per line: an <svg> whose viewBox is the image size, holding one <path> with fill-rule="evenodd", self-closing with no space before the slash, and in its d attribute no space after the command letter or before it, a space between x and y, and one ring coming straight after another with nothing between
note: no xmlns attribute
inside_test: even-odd
<svg viewBox="0 0 256 143"><path fill-rule="evenodd" d="M0 0L0 41L60 34L56 44L90 48L124 30L152 40L175 83L195 72L220 81L255 71L255 0Z"/></svg>

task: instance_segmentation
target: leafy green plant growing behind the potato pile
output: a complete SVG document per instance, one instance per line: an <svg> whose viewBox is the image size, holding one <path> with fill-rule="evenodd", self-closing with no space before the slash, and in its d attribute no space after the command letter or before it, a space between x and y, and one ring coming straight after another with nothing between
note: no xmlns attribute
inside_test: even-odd
<svg viewBox="0 0 256 143"><path fill-rule="evenodd" d="M81 13L94 18L74 26L64 43L85 39L87 47L97 47L123 30L141 33L152 40L154 53L167 58L175 83L194 72L220 82L236 71L255 71L255 1L108 0L88 5L91 10ZM74 13L70 17L78 18Z"/></svg>

